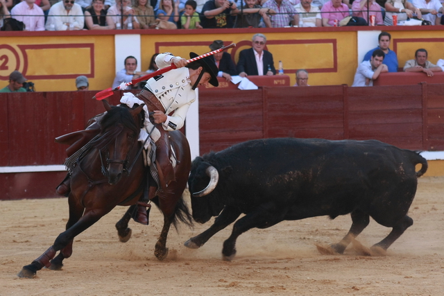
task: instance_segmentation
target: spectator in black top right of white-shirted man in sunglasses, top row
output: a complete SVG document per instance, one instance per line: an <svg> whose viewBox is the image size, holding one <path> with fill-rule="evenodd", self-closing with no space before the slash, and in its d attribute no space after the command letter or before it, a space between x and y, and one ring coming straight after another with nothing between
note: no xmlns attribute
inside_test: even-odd
<svg viewBox="0 0 444 296"><path fill-rule="evenodd" d="M105 1L94 0L85 10L85 25L89 30L114 30L116 25L112 17L106 15Z"/></svg>

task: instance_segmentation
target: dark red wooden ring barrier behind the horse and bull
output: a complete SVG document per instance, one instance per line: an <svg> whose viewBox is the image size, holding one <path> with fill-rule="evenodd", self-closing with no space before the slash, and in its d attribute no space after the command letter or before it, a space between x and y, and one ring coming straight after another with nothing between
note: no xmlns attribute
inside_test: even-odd
<svg viewBox="0 0 444 296"><path fill-rule="evenodd" d="M137 91L136 91L137 92ZM103 112L96 92L1 94L0 168L61 165L53 139ZM268 137L379 139L444 150L444 84L402 87L262 87L200 93L200 155ZM108 98L117 104L121 94ZM2 199L55 197L65 172L0 173Z"/></svg>

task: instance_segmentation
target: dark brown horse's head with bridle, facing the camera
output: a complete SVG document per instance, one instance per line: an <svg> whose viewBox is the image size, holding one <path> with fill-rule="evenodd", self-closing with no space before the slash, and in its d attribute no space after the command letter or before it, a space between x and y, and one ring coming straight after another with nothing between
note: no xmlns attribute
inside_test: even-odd
<svg viewBox="0 0 444 296"><path fill-rule="evenodd" d="M101 134L93 146L100 150L102 173L108 177L108 183L114 185L121 180L123 173L128 173L128 164L136 159L130 159L137 149L137 139L141 128L142 107L129 109L126 105L111 106L103 100L108 111L101 120ZM104 162L105 160L105 162Z"/></svg>

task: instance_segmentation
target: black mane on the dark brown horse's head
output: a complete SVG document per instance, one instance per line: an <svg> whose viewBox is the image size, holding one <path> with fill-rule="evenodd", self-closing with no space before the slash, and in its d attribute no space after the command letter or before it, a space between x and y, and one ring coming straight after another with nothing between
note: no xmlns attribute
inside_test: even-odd
<svg viewBox="0 0 444 296"><path fill-rule="evenodd" d="M125 128L133 131L136 135L140 132L140 127L134 122L133 116L131 116L126 105L112 106L111 110L103 116L100 125L101 134L91 142L92 147L97 149L107 147Z"/></svg>

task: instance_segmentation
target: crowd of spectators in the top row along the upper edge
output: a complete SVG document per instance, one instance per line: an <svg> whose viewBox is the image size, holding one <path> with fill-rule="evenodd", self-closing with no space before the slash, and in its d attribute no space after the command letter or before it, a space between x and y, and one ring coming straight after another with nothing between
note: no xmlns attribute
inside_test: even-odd
<svg viewBox="0 0 444 296"><path fill-rule="evenodd" d="M0 0L26 31L444 24L444 0ZM419 21L419 23L418 23Z"/></svg>

